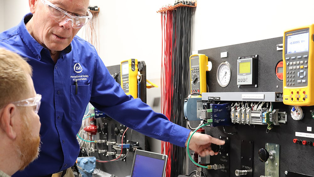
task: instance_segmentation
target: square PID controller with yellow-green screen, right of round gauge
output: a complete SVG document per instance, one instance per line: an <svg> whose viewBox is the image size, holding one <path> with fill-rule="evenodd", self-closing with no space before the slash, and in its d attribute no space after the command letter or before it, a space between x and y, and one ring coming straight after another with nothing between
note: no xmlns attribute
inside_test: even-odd
<svg viewBox="0 0 314 177"><path fill-rule="evenodd" d="M258 55L239 57L237 60L237 85L239 88L257 87Z"/></svg>

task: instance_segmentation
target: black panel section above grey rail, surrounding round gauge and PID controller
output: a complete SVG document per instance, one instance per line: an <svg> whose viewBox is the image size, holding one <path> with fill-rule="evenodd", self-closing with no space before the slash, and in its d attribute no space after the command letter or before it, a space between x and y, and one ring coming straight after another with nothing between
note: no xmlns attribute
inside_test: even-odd
<svg viewBox="0 0 314 177"><path fill-rule="evenodd" d="M282 92L282 81L279 81L275 75L276 64L282 60L282 50L277 51L276 44L281 43L282 37L279 37L199 50L198 53L208 56L208 60L212 63L209 77L206 78L209 92ZM228 52L228 57L220 58L221 52ZM258 55L257 88L238 88L237 59L250 55ZM231 68L231 80L226 87L221 87L216 78L218 65L223 61L229 62Z"/></svg>

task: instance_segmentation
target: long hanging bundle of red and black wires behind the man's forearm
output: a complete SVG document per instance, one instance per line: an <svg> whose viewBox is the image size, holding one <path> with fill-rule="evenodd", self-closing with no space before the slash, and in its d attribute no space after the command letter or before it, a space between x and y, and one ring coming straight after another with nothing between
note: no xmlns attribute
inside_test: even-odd
<svg viewBox="0 0 314 177"><path fill-rule="evenodd" d="M192 8L179 7L161 13L162 66L161 105L162 113L171 122L186 126L183 114L184 98L189 94L189 56L191 55ZM168 154L166 176L185 174L185 148L167 142L162 143L162 153ZM170 165L171 164L171 165Z"/></svg>

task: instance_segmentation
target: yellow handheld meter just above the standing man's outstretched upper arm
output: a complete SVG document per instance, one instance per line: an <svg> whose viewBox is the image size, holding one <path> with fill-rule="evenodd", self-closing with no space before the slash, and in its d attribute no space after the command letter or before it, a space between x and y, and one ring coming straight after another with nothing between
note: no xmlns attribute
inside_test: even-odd
<svg viewBox="0 0 314 177"><path fill-rule="evenodd" d="M132 95L133 98L138 96L138 61L129 59L122 61L120 64L121 87L125 94Z"/></svg>

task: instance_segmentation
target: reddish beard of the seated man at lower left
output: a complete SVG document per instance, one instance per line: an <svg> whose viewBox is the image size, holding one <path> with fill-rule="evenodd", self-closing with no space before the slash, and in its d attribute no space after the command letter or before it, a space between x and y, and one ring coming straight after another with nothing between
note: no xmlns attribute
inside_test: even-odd
<svg viewBox="0 0 314 177"><path fill-rule="evenodd" d="M32 161L38 158L40 152L40 136L31 134L31 127L28 123L28 119L25 114L22 114L22 125L21 135L23 137L19 138L19 141L15 147L20 159L20 169L24 170L25 167Z"/></svg>

